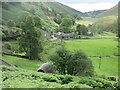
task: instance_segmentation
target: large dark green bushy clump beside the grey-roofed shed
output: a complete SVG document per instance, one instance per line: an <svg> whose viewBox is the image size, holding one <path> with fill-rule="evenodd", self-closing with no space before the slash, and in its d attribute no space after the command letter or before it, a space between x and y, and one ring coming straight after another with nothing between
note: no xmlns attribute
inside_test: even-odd
<svg viewBox="0 0 120 90"><path fill-rule="evenodd" d="M50 60L61 74L93 75L92 62L82 51L70 52L60 48L50 57Z"/></svg>

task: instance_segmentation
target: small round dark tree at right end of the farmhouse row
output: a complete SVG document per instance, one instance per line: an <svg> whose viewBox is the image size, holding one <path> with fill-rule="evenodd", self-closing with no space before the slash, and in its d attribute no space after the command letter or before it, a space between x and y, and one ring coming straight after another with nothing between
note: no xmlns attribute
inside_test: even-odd
<svg viewBox="0 0 120 90"><path fill-rule="evenodd" d="M88 32L88 28L85 25L78 24L76 27L76 31L79 35L86 35L86 33Z"/></svg>

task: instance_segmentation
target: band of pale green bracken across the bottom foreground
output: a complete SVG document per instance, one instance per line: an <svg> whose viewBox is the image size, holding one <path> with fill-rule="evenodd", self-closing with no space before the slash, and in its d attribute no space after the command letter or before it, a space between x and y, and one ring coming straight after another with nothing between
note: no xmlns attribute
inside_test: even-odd
<svg viewBox="0 0 120 90"><path fill-rule="evenodd" d="M97 77L38 73L5 66L1 68L3 88L118 88L116 82Z"/></svg>

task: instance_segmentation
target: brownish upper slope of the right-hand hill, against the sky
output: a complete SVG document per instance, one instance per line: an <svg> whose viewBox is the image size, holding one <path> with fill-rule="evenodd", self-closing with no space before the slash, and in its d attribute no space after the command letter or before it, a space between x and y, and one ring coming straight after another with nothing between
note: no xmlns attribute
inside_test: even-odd
<svg viewBox="0 0 120 90"><path fill-rule="evenodd" d="M115 5L111 9L104 11L99 14L97 17L106 17L106 16L118 16L118 5Z"/></svg>

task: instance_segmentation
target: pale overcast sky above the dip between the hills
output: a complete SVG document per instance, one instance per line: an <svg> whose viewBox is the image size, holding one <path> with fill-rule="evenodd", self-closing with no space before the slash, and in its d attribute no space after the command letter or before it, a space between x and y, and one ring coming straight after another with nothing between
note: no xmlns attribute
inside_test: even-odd
<svg viewBox="0 0 120 90"><path fill-rule="evenodd" d="M110 9L119 2L119 0L57 0L57 1L81 12Z"/></svg>

